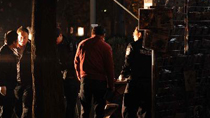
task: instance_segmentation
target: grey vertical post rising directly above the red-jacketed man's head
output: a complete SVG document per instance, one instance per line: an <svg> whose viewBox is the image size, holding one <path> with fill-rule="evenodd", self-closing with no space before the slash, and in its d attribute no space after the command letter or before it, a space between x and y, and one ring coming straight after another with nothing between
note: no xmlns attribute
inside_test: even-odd
<svg viewBox="0 0 210 118"><path fill-rule="evenodd" d="M90 0L90 26L91 24L96 24L96 0Z"/></svg>

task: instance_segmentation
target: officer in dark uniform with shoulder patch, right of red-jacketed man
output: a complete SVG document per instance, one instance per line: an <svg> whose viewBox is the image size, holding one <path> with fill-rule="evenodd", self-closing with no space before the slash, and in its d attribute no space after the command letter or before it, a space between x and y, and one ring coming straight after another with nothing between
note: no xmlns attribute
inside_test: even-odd
<svg viewBox="0 0 210 118"><path fill-rule="evenodd" d="M151 51L142 48L142 34L138 28L133 37L134 42L127 46L125 64L119 76L120 80L127 78L123 117L139 118L146 113L146 118L151 118Z"/></svg>

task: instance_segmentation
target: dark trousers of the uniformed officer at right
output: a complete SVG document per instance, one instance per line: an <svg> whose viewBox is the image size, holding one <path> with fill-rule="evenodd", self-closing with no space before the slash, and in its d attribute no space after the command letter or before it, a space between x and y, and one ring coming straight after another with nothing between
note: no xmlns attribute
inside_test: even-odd
<svg viewBox="0 0 210 118"><path fill-rule="evenodd" d="M123 96L122 113L124 118L139 118L146 112L145 118L151 118L150 81L128 82Z"/></svg>

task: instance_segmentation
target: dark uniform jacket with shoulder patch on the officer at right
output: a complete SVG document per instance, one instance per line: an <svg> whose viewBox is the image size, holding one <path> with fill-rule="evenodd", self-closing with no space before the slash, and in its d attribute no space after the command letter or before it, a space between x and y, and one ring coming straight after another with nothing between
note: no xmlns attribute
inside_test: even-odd
<svg viewBox="0 0 210 118"><path fill-rule="evenodd" d="M151 77L151 51L142 48L142 39L128 44L121 75L130 79Z"/></svg>

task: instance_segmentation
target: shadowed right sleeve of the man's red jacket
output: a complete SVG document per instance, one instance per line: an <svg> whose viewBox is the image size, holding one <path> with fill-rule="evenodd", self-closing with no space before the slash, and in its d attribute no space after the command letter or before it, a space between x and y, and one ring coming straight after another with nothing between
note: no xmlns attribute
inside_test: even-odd
<svg viewBox="0 0 210 118"><path fill-rule="evenodd" d="M107 84L108 88L113 89L114 87L114 63L113 63L113 56L112 56L112 48L108 46L108 50L106 50L105 54L105 71L107 74Z"/></svg>

